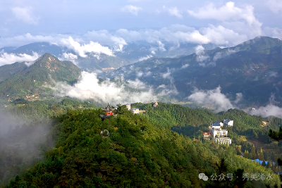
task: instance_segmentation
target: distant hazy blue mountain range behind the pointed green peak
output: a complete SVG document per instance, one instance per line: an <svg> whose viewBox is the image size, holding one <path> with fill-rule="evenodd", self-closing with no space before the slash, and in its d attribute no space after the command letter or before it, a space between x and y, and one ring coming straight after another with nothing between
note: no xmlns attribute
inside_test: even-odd
<svg viewBox="0 0 282 188"><path fill-rule="evenodd" d="M162 44L162 43L161 43ZM72 61L80 67L81 70L102 70L103 68L120 68L123 65L142 61L149 57L176 57L187 56L192 54L196 44L171 44L164 42L164 46L146 41L132 42L123 46L122 51L115 51L111 46L103 45L114 51L114 56L106 54L86 53L85 57L75 55L73 49L66 46L49 44L48 42L35 42L24 46L4 47L0 52L9 54L28 54L32 56L34 53L42 56L45 53L52 54L61 60ZM206 49L212 49L213 44L204 46ZM68 54L73 54L72 58Z"/></svg>

